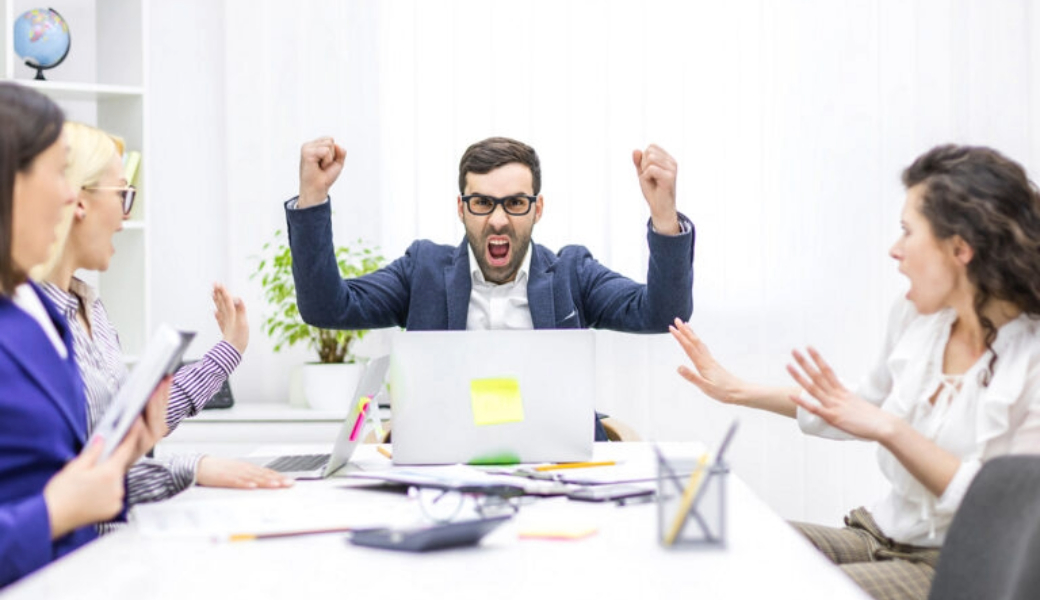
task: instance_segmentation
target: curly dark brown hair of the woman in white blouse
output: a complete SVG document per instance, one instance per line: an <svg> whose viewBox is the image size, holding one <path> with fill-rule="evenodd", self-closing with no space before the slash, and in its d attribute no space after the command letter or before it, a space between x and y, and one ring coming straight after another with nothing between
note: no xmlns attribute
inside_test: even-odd
<svg viewBox="0 0 1040 600"><path fill-rule="evenodd" d="M1040 315L1040 191L1025 169L985 147L938 146L903 172L903 184L925 184L921 214L939 239L958 235L974 251L967 266L974 312L993 349L996 328L983 315L990 299ZM996 353L983 374L988 384Z"/></svg>

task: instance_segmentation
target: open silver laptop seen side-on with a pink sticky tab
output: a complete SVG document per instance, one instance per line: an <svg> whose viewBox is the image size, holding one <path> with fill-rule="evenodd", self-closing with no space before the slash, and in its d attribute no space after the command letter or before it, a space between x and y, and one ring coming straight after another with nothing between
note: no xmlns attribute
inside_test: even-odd
<svg viewBox="0 0 1040 600"><path fill-rule="evenodd" d="M386 382L390 357L368 361L354 395L350 411L336 436L331 454L292 454L286 456L248 456L243 461L262 465L294 479L323 479L342 468L361 443L361 433L368 411L379 411L376 396ZM367 402L365 400L368 400ZM378 418L378 413L376 413Z"/></svg>

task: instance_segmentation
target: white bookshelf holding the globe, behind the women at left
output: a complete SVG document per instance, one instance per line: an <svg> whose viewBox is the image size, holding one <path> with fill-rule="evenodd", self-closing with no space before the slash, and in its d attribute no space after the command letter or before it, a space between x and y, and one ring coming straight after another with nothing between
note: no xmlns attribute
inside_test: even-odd
<svg viewBox="0 0 1040 600"><path fill-rule="evenodd" d="M130 220L115 235L115 256L106 272L80 273L96 285L112 322L120 332L128 356L139 355L152 321L149 298L149 194L145 94L148 74L146 52L148 0L0 0L0 73L46 94L57 102L71 121L95 125L122 136L128 150L141 153L137 175L137 200ZM15 19L30 8L50 7L69 23L72 46L69 56L44 73L46 81L33 79L35 70L15 55Z"/></svg>

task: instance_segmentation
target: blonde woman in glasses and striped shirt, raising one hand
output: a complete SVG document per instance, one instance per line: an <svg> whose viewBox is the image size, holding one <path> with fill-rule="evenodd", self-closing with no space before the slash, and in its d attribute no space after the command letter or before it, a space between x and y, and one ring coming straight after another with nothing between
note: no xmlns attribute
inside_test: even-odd
<svg viewBox="0 0 1040 600"><path fill-rule="evenodd" d="M133 206L135 190L123 173L123 142L99 129L66 123L69 165L66 178L76 201L58 228L52 260L41 270L42 288L69 320L76 360L83 379L90 428L98 422L127 376L119 335L97 292L74 273L104 271L114 254L112 236ZM249 343L245 307L220 285L213 286L216 320L224 340L202 360L174 375L166 424L173 431L196 415L238 366ZM130 504L173 496L191 484L223 488L281 488L283 475L240 461L202 455L142 460L130 469Z"/></svg>

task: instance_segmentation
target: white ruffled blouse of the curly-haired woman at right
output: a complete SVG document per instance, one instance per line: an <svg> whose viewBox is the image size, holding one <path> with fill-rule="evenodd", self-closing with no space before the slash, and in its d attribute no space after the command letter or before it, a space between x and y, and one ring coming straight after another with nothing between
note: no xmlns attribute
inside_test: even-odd
<svg viewBox="0 0 1040 600"><path fill-rule="evenodd" d="M993 350L957 377L942 372L956 319L953 309L921 315L909 301L896 303L881 360L856 390L961 459L954 478L936 497L879 445L878 462L891 489L872 513L885 534L904 544L942 545L984 461L1040 452L1040 320L1022 314L1006 323L997 332ZM982 376L993 351L997 360L989 385L984 386ZM801 408L798 422L807 434L852 438Z"/></svg>

